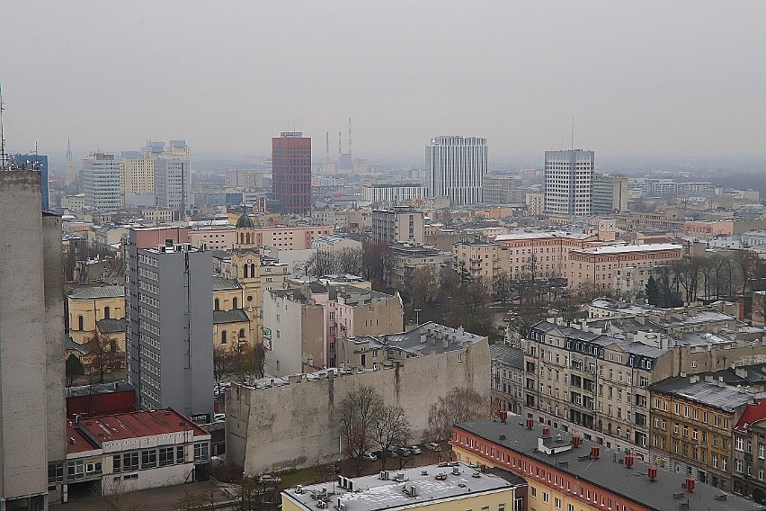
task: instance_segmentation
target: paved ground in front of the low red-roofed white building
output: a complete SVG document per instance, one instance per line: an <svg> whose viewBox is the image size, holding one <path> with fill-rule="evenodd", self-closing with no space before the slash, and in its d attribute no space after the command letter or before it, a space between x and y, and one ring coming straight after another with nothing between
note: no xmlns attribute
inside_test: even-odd
<svg viewBox="0 0 766 511"><path fill-rule="evenodd" d="M54 504L51 511L175 511L182 501L205 496L209 505L209 482L195 482L166 488L131 491L118 497L77 496L66 504ZM228 500L222 491L214 492L216 502ZM201 503L200 500L198 502Z"/></svg>

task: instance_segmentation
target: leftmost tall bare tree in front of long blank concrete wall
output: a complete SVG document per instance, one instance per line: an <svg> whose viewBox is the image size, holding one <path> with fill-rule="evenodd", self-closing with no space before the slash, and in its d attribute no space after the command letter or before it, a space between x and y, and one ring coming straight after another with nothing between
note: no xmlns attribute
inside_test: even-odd
<svg viewBox="0 0 766 511"><path fill-rule="evenodd" d="M383 408L383 397L372 386L359 385L349 392L337 408L344 453L361 474L362 457L374 441L376 420Z"/></svg>

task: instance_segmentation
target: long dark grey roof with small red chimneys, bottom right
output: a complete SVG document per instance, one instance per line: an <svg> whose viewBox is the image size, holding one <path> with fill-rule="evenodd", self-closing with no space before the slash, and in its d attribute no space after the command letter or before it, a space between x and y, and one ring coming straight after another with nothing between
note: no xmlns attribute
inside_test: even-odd
<svg viewBox="0 0 766 511"><path fill-rule="evenodd" d="M685 503L687 499L689 499L691 510L762 511L766 509L752 500L726 494L720 489L699 481L693 493L686 492L681 487L681 484L685 482L685 475L672 471L658 469L657 479L650 481L647 477L648 463L636 460L633 468L628 469L624 464L619 463L623 457L622 453L610 451L603 445L599 446L601 453L597 460L583 458L581 461L579 457L590 453L591 446L595 445L592 442L583 441L579 448L571 448L555 454L540 452L537 447L538 438L542 435L542 425L535 424L530 430L522 421L523 419L519 416L511 416L506 423L484 420L459 424L456 427L656 511L679 509L679 504ZM551 436L555 438L557 435L561 435L562 442L554 441L556 445L566 447L567 444L571 444L570 433L551 428ZM683 494L682 498L673 498L673 494L678 493ZM717 496L722 495L726 495L726 500L716 499Z"/></svg>

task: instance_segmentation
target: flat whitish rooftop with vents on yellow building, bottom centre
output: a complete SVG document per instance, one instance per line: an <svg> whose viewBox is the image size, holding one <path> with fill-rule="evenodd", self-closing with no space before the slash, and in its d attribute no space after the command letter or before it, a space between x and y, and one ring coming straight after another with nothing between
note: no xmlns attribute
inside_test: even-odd
<svg viewBox="0 0 766 511"><path fill-rule="evenodd" d="M526 485L526 481L511 472L507 472L506 479L495 473L479 472L462 462L388 471L387 480L381 479L379 474L348 478L351 484L341 483L341 480L338 478L334 485L331 482L307 486L301 493L294 488L287 489L282 492L282 498L289 498L299 506L314 511L317 497L322 498L324 489L329 498L328 508L333 509L340 502L346 511L378 511L435 504ZM414 486L414 497L405 493L405 485L407 488Z"/></svg>

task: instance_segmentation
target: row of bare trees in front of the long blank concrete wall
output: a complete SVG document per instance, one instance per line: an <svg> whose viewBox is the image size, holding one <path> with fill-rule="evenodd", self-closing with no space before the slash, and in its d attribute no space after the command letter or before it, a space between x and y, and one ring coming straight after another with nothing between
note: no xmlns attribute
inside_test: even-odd
<svg viewBox="0 0 766 511"><path fill-rule="evenodd" d="M338 422L345 448L343 455L351 459L356 475L361 474L365 453L376 448L382 455L382 470L386 470L388 452L409 444L412 429L405 410L387 405L374 387L359 385L349 392L337 408ZM489 401L475 390L454 388L446 397L431 405L428 414L427 442L446 442L452 425L489 417ZM406 460L399 457L401 469Z"/></svg>

